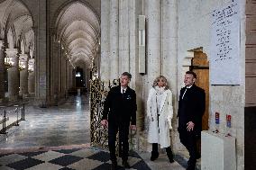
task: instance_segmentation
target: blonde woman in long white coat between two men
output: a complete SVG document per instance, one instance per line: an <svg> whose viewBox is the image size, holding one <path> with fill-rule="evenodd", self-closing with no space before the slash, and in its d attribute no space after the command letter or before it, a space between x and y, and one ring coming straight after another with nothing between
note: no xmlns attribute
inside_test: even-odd
<svg viewBox="0 0 256 170"><path fill-rule="evenodd" d="M160 148L166 148L169 162L174 162L169 137L169 130L172 129L172 116L172 93L167 85L166 77L158 76L154 80L147 101L148 142L152 144L151 161L159 157L158 144L160 144Z"/></svg>

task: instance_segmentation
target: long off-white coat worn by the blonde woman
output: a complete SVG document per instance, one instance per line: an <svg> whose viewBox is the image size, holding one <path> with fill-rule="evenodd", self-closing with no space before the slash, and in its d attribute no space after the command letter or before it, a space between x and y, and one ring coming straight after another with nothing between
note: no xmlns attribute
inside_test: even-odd
<svg viewBox="0 0 256 170"><path fill-rule="evenodd" d="M160 103L159 126L156 94L156 90L151 88L147 101L147 116L149 120L148 142L159 143L160 148L168 148L170 146L169 130L172 129L171 119L173 116L172 93L169 89L163 93Z"/></svg>

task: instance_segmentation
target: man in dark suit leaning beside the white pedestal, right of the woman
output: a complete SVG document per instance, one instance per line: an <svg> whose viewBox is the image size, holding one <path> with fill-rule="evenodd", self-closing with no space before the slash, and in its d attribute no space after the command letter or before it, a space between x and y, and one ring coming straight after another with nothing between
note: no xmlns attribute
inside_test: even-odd
<svg viewBox="0 0 256 170"><path fill-rule="evenodd" d="M194 170L197 163L197 138L202 130L202 117L206 110L205 90L195 85L196 73L187 71L178 100L178 133L180 142L189 152L187 170Z"/></svg>

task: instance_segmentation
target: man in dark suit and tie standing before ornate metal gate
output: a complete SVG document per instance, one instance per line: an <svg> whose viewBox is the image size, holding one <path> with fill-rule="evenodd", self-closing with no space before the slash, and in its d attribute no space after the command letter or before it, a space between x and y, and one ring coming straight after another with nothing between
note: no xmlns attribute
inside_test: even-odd
<svg viewBox="0 0 256 170"><path fill-rule="evenodd" d="M136 130L136 94L128 84L130 83L132 75L124 72L121 75L121 85L111 88L106 96L104 111L102 117L102 125L108 126L108 147L110 151L110 159L112 161L111 168L117 169L117 162L115 157L115 139L119 131L119 146L122 150L122 165L125 168L130 168L128 160L129 151L129 127Z"/></svg>

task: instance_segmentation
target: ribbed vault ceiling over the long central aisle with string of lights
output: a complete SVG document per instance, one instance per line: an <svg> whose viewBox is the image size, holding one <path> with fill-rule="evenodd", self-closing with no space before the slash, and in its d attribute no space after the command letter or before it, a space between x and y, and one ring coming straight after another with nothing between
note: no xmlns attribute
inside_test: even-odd
<svg viewBox="0 0 256 170"><path fill-rule="evenodd" d="M59 13L57 32L61 44L67 50L71 63L80 62L90 67L96 56L100 33L99 18L86 4L70 4Z"/></svg>

